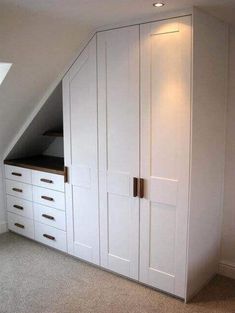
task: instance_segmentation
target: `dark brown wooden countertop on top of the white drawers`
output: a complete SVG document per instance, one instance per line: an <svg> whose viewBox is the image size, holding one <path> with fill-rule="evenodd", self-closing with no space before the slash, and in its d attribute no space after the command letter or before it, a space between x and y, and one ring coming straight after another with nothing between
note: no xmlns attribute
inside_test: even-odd
<svg viewBox="0 0 235 313"><path fill-rule="evenodd" d="M63 176L65 174L64 158L46 155L38 155L14 160L4 160L4 164L29 168L31 170L53 173Z"/></svg>

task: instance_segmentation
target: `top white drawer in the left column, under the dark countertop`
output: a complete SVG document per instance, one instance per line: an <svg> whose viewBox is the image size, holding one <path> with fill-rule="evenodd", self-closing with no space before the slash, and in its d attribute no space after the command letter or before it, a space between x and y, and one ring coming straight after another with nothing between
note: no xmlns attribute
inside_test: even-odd
<svg viewBox="0 0 235 313"><path fill-rule="evenodd" d="M5 165L5 176L7 179L31 184L31 170L18 166Z"/></svg>

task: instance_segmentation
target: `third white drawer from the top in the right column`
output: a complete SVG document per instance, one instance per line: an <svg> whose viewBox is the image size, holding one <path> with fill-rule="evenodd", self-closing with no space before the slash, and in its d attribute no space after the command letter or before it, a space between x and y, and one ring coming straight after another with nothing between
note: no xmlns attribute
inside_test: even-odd
<svg viewBox="0 0 235 313"><path fill-rule="evenodd" d="M34 203L34 219L40 223L65 230L65 212Z"/></svg>

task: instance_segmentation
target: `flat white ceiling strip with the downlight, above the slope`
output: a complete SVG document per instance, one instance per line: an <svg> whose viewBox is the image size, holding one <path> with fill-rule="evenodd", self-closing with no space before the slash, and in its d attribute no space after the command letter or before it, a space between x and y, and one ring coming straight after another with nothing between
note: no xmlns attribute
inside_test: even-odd
<svg viewBox="0 0 235 313"><path fill-rule="evenodd" d="M154 8L153 2L157 0L0 0L0 4L94 27L149 16L160 10L171 11L192 6L199 6L229 23L235 23L234 0L163 0L165 6L160 9Z"/></svg>

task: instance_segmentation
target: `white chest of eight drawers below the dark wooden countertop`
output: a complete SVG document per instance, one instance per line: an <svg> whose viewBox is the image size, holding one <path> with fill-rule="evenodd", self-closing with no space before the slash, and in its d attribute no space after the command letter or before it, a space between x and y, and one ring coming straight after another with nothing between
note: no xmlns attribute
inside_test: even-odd
<svg viewBox="0 0 235 313"><path fill-rule="evenodd" d="M5 165L8 228L67 252L63 175Z"/></svg>

